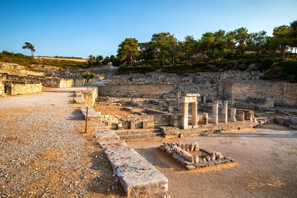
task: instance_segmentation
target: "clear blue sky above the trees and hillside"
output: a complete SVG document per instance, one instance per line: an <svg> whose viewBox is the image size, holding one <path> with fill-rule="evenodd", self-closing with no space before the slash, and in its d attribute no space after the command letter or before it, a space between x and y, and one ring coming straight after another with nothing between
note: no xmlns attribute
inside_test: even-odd
<svg viewBox="0 0 297 198"><path fill-rule="evenodd" d="M116 55L125 38L178 40L246 27L267 31L297 20L297 0L0 0L0 51L31 55Z"/></svg>

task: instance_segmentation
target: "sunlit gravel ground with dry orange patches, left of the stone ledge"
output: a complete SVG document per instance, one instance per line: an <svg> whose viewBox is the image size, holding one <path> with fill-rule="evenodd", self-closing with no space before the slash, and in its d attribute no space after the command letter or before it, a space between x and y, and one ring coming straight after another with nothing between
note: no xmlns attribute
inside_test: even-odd
<svg viewBox="0 0 297 198"><path fill-rule="evenodd" d="M123 197L68 93L0 98L0 197Z"/></svg>

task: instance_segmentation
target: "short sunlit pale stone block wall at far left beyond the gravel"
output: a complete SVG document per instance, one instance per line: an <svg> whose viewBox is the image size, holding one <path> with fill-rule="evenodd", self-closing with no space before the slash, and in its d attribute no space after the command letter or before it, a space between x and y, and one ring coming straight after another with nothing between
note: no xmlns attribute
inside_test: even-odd
<svg viewBox="0 0 297 198"><path fill-rule="evenodd" d="M20 94L33 94L41 93L42 84L41 83L7 83L6 94L9 95L20 95Z"/></svg>

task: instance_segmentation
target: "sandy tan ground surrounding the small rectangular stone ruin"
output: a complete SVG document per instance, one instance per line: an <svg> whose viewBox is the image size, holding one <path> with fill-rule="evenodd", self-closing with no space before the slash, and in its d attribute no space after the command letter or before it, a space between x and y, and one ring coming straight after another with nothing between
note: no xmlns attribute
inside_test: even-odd
<svg viewBox="0 0 297 198"><path fill-rule="evenodd" d="M172 198L297 197L297 130L270 124L164 142L198 142L237 161L189 171L157 148L160 141L129 143L168 178Z"/></svg>

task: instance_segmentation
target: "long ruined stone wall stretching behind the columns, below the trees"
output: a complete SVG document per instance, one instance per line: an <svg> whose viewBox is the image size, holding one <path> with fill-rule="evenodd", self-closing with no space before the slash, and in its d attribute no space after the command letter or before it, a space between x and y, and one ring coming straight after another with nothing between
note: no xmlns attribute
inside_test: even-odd
<svg viewBox="0 0 297 198"><path fill-rule="evenodd" d="M297 84L260 81L259 71L202 72L188 77L156 74L114 76L99 87L99 95L112 97L143 97L177 99L186 94L206 95L214 99L261 99L272 97L275 105L297 106ZM134 83L134 84L132 84ZM200 99L198 99L200 101ZM271 104L273 103L271 102Z"/></svg>

